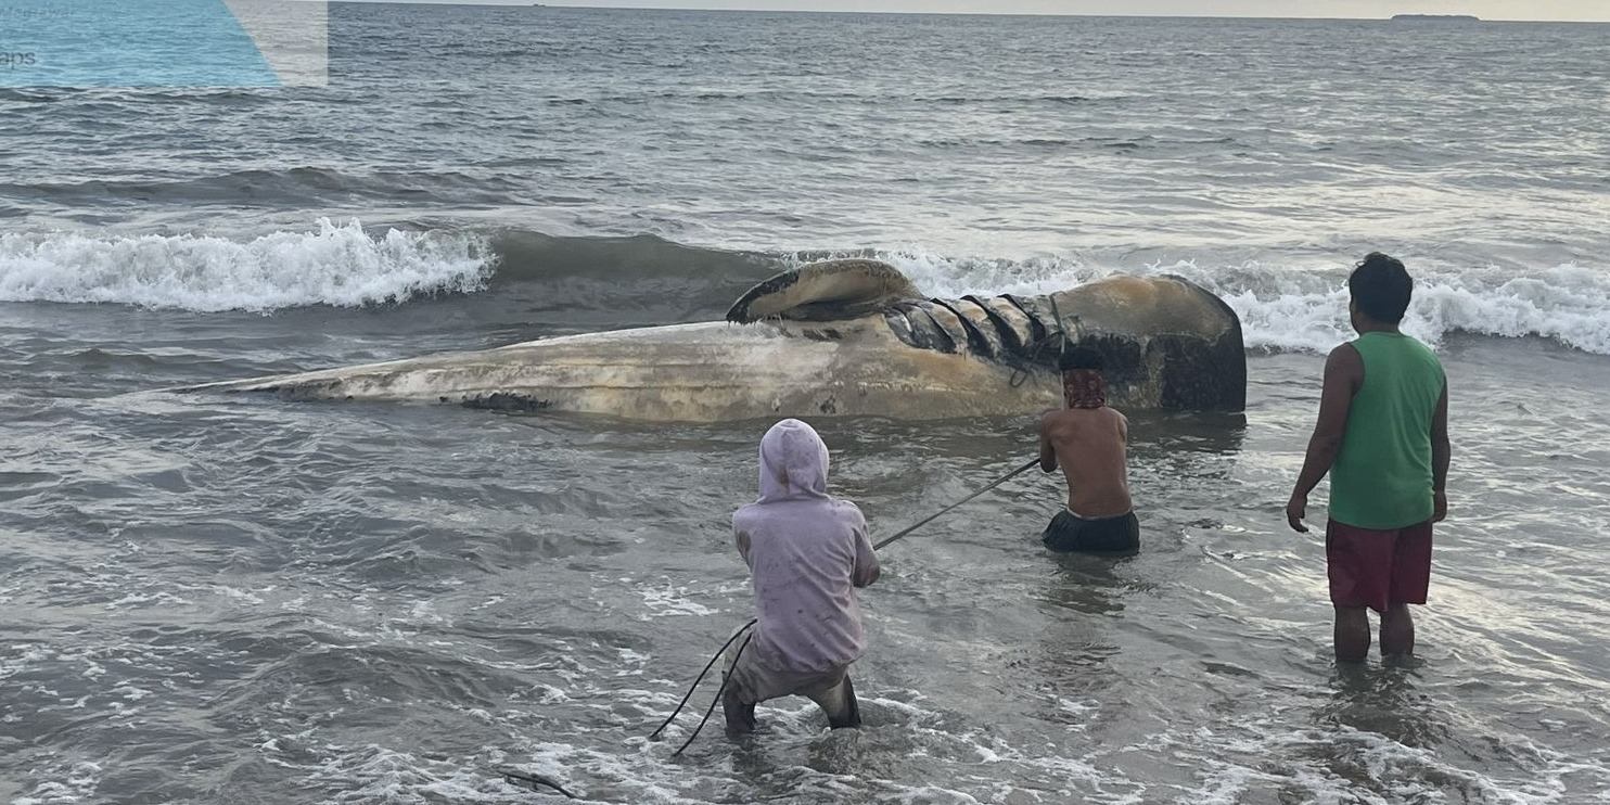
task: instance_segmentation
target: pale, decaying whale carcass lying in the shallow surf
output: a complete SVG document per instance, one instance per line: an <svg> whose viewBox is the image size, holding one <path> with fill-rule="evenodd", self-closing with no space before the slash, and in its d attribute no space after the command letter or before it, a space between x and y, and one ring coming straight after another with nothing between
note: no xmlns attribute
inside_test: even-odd
<svg viewBox="0 0 1610 805"><path fill-rule="evenodd" d="M1108 277L1043 296L924 299L892 266L802 266L724 322L642 327L192 386L665 422L776 415L948 419L1061 402L1064 343L1100 349L1117 407L1241 411L1241 322L1180 277Z"/></svg>

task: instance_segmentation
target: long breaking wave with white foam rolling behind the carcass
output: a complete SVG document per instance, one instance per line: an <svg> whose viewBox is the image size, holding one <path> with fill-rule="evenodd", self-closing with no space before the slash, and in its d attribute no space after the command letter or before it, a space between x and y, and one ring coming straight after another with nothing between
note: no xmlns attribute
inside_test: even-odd
<svg viewBox="0 0 1610 805"><path fill-rule="evenodd" d="M652 235L555 237L522 229L365 229L319 221L254 238L0 235L0 301L113 303L198 312L401 304L441 295L520 293L530 309L718 316L753 282L826 258L884 259L932 296L1046 293L1114 274L1179 274L1220 295L1249 349L1323 351L1351 336L1344 269L1204 259L1119 266L1101 256L942 256L886 251L734 251ZM1428 343L1465 332L1541 336L1610 354L1610 275L1597 267L1457 266L1417 259L1404 330Z"/></svg>

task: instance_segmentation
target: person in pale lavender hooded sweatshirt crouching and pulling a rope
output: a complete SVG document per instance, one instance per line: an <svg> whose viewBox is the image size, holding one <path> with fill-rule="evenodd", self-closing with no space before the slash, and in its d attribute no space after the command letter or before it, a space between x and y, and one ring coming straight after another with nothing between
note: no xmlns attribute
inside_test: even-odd
<svg viewBox="0 0 1610 805"><path fill-rule="evenodd" d="M784 419L760 440L760 499L733 514L755 588L755 625L728 650L726 734L755 729L755 705L816 702L834 729L860 726L850 663L866 649L855 588L877 580L866 518L828 494L828 446Z"/></svg>

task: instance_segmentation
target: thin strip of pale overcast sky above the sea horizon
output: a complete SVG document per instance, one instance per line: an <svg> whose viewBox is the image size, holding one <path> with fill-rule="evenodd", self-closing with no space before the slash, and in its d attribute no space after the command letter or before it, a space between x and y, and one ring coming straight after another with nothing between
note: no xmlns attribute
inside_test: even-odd
<svg viewBox="0 0 1610 805"><path fill-rule="evenodd" d="M452 0L431 0L452 2ZM531 5L531 0L478 0ZM1481 19L1610 23L1610 0L543 0L613 8L753 8L797 11L929 11L997 14L1317 16L1475 14Z"/></svg>

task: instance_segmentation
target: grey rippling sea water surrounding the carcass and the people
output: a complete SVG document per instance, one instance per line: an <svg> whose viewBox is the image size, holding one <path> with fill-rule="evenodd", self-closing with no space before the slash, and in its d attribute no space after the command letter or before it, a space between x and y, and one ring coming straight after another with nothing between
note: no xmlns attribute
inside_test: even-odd
<svg viewBox="0 0 1610 805"><path fill-rule="evenodd" d="M0 802L1610 802L1610 26L332 5L328 43L325 87L0 89ZM1373 250L1451 515L1417 660L1340 670L1282 509ZM829 256L1182 274L1249 364L1245 414L1130 412L1140 555L1043 551L1038 473L886 547L858 731L696 736L707 678L647 737L750 617L770 422L164 391L716 319ZM874 539L1034 449L811 422Z"/></svg>

